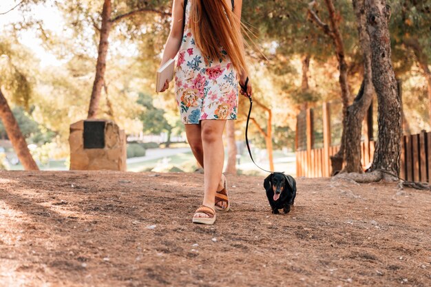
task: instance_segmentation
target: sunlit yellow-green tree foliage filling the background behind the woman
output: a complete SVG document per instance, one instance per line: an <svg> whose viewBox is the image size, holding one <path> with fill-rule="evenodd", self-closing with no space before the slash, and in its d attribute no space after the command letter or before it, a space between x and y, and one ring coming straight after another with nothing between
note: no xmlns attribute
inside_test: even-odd
<svg viewBox="0 0 431 287"><path fill-rule="evenodd" d="M7 57L0 59L0 85L5 89L10 103L22 107L27 111L24 115L31 119L30 122L33 121L32 131L25 131L26 136L30 136L29 141L55 141L56 147L67 153L69 125L85 118L87 114L103 1L54 1L54 7L63 15L65 28L61 33L50 30L43 19L37 19L37 15L30 16L33 8L45 2L24 1L21 6L24 20L17 21L12 28L3 31L0 55L5 54ZM295 115L300 105L339 98L333 43L309 19L309 2L243 1L242 19L251 30L249 33L253 41L248 41L251 47L247 49L247 54L254 97L273 111L276 147L292 145ZM317 14L328 23L324 1L316 2ZM160 12L142 12L124 18L113 26L109 35L106 89L102 92L98 118L115 120L127 134L140 131L145 134L180 134L184 131L173 88L164 94L154 93L154 74L160 63L171 20L164 13L171 12L171 3L171 0L112 1L113 19L141 8ZM350 86L354 96L361 83L362 73L356 19L350 0L334 3L350 64ZM430 4L429 1L412 0L392 0L388 3L392 7L392 58L397 76L406 83L404 105L412 110L410 118L421 122L428 117L424 81L417 75L414 54L404 42L412 37L417 38L431 59ZM34 55L19 43L19 32L23 30L34 31L42 40L43 47L62 61L59 66L41 67ZM301 89L301 59L305 55L311 56L308 77L310 88L306 92ZM418 99L420 104L416 105ZM245 119L248 107L248 100L241 97L238 123ZM266 130L266 112L255 105L252 116ZM242 135L244 125L236 126ZM423 125L418 124L417 127ZM262 134L253 123L250 133L256 144L259 142L263 146Z"/></svg>

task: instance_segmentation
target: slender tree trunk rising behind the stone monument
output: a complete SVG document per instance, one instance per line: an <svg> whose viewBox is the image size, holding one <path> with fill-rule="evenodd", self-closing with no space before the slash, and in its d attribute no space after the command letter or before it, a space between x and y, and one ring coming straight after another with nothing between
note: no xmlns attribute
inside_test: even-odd
<svg viewBox="0 0 431 287"><path fill-rule="evenodd" d="M87 118L96 118L98 103L101 98L101 90L103 86L103 77L106 69L106 56L108 50L108 37L112 28L111 21L112 4L111 0L105 0L102 10L102 28L101 39L98 44L98 56L96 64L96 76L94 77L92 96L90 99L90 107L88 108Z"/></svg>

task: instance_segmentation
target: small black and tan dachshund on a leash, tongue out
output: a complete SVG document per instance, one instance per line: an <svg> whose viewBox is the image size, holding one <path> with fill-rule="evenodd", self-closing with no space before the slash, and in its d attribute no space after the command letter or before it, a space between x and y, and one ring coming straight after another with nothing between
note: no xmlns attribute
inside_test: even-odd
<svg viewBox="0 0 431 287"><path fill-rule="evenodd" d="M296 196L294 178L284 173L271 173L264 180L264 188L274 214L279 214L279 209L283 209L284 213L291 211Z"/></svg>

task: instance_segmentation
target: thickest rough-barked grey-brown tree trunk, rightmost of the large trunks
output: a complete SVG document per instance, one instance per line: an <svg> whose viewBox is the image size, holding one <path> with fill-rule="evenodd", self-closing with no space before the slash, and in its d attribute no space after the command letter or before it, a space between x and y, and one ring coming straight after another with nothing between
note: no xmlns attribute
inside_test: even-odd
<svg viewBox="0 0 431 287"><path fill-rule="evenodd" d="M366 0L366 15L372 53L372 83L377 93L379 123L379 138L371 170L383 170L398 175L401 154L401 100L390 59L390 7L386 5L386 0ZM395 177L383 173L383 180L395 180Z"/></svg>

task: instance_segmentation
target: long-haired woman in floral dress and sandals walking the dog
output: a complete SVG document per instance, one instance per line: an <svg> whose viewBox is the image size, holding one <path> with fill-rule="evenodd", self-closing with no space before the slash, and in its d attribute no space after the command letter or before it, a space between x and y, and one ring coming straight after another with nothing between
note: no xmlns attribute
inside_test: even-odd
<svg viewBox="0 0 431 287"><path fill-rule="evenodd" d="M163 65L178 54L175 94L187 140L204 167L204 200L193 223L213 224L215 209L229 211L222 175L226 120L235 120L238 80L248 83L240 32L242 0L174 0ZM185 19L184 15L185 14ZM165 83L161 92L169 87ZM241 94L251 96L251 85Z"/></svg>

